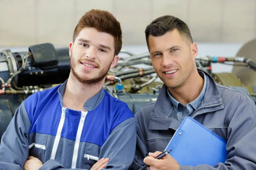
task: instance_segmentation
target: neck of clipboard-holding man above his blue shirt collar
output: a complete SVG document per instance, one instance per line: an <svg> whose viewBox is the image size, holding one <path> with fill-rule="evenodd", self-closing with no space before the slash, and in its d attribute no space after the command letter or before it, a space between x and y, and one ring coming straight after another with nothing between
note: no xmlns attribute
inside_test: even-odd
<svg viewBox="0 0 256 170"><path fill-rule="evenodd" d="M172 97L178 102L187 105L194 101L201 93L204 87L204 79L199 75L198 71L194 71L186 84L180 88L168 88Z"/></svg>

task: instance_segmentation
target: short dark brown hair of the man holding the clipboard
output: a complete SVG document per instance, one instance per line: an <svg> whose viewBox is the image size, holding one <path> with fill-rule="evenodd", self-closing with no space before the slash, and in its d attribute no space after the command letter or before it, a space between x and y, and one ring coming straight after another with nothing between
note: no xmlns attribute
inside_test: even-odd
<svg viewBox="0 0 256 170"><path fill-rule="evenodd" d="M179 18L172 15L165 15L158 17L152 21L145 29L145 36L148 45L148 36L153 35L154 37L162 36L168 31L173 31L177 29L181 35L186 37L186 39L193 43L192 36L189 31L189 27ZM149 47L148 47L149 49Z"/></svg>

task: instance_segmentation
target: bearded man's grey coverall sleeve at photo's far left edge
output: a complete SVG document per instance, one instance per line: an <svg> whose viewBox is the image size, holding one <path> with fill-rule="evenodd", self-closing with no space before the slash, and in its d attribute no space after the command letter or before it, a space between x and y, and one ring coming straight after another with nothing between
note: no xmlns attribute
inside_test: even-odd
<svg viewBox="0 0 256 170"><path fill-rule="evenodd" d="M1 170L23 170L23 165L29 155L30 125L29 116L23 102L15 112L1 139Z"/></svg>

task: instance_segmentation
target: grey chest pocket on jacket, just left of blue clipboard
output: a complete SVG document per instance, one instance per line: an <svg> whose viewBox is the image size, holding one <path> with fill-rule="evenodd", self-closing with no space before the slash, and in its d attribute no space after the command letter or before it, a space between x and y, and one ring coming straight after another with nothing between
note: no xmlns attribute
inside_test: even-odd
<svg viewBox="0 0 256 170"><path fill-rule="evenodd" d="M154 153L155 151L163 152L172 139L172 136L152 136L146 139L148 144L148 152Z"/></svg>

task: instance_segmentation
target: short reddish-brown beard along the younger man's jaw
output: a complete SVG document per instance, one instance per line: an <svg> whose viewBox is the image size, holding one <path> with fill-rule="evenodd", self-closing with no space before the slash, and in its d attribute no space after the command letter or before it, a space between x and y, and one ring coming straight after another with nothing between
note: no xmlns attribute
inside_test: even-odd
<svg viewBox="0 0 256 170"><path fill-rule="evenodd" d="M81 82L83 84L93 86L93 85L99 84L99 82L101 82L102 79L105 79L105 77L108 74L108 71L109 71L109 69L111 67L111 63L106 68L103 68L100 71L100 73L99 73L99 75L97 77L94 77L92 79L83 79L83 78L79 77L79 75L75 71L75 66L76 66L76 61L75 61L74 57L72 57L72 55L71 55L71 57L70 57L70 71L71 71L73 77L77 81L79 81L79 82Z"/></svg>

